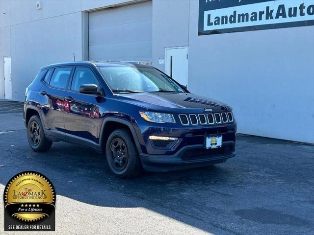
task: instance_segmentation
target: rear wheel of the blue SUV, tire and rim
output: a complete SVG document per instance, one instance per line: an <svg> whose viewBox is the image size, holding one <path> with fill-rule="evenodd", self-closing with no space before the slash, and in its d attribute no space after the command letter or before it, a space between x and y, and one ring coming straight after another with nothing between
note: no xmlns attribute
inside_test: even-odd
<svg viewBox="0 0 314 235"><path fill-rule="evenodd" d="M34 152L46 152L51 148L52 141L48 141L43 125L37 115L33 115L27 123L27 140Z"/></svg>

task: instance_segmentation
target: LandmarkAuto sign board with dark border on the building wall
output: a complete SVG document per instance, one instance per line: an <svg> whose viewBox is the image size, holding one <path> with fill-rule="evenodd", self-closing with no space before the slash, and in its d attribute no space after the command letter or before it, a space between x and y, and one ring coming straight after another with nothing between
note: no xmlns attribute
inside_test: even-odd
<svg viewBox="0 0 314 235"><path fill-rule="evenodd" d="M198 35L314 25L314 0L199 0Z"/></svg>

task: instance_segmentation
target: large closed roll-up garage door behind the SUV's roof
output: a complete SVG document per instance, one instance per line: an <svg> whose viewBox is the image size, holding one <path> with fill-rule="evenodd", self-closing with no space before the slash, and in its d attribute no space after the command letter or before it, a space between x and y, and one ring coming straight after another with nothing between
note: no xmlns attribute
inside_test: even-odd
<svg viewBox="0 0 314 235"><path fill-rule="evenodd" d="M89 60L152 60L152 1L91 12L88 24Z"/></svg>

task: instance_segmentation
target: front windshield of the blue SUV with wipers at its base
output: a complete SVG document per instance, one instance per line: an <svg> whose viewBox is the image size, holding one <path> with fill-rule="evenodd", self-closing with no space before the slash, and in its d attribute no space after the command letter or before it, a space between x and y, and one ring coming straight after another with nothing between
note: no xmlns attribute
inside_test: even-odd
<svg viewBox="0 0 314 235"><path fill-rule="evenodd" d="M98 68L113 92L184 92L170 77L154 68L130 66Z"/></svg>

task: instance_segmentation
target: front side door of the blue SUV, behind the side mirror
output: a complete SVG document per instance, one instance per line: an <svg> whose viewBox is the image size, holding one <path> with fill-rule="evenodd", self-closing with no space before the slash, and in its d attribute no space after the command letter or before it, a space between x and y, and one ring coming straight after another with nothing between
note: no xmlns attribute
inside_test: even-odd
<svg viewBox="0 0 314 235"><path fill-rule="evenodd" d="M65 94L64 122L66 139L86 145L86 142L98 142L99 106L103 99L94 94L79 93L83 84L95 84L101 89L93 71L76 67Z"/></svg>

